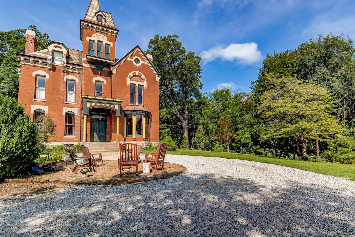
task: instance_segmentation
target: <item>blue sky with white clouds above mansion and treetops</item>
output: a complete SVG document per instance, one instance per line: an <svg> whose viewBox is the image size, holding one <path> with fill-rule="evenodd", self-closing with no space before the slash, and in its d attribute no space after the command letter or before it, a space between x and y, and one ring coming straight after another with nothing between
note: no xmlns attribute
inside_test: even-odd
<svg viewBox="0 0 355 237"><path fill-rule="evenodd" d="M0 31L34 24L51 40L82 50L80 19L89 0L0 0ZM250 92L266 54L294 49L329 32L355 38L355 1L99 0L111 12L119 34L116 57L155 34L177 34L202 57L203 92L224 86Z"/></svg>

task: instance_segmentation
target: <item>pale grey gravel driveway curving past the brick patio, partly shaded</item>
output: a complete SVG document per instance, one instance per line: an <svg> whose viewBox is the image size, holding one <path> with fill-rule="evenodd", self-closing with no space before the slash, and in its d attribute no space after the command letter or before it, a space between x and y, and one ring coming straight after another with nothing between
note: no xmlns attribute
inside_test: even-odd
<svg viewBox="0 0 355 237"><path fill-rule="evenodd" d="M244 160L166 155L187 171L0 202L0 236L355 236L355 182Z"/></svg>

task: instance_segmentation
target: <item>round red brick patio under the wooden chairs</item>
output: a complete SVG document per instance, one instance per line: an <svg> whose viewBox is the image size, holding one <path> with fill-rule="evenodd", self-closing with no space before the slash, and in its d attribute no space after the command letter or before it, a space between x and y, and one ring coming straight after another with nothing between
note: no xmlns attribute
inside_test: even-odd
<svg viewBox="0 0 355 237"><path fill-rule="evenodd" d="M99 165L99 164L98 164ZM170 178L173 176L181 175L187 169L185 166L175 163L164 163L164 168L167 170L143 173L143 163L138 164L138 176L136 176L136 167L124 169L124 174L120 176L118 161L104 161L104 165L95 167L95 172L87 172L88 177L81 177L81 173L72 173L73 166L60 166L51 173L44 173L43 175L36 175L29 180L12 180L7 179L5 182L66 182L72 184L117 184L124 185L127 183L135 183L149 180L159 180L163 178Z"/></svg>

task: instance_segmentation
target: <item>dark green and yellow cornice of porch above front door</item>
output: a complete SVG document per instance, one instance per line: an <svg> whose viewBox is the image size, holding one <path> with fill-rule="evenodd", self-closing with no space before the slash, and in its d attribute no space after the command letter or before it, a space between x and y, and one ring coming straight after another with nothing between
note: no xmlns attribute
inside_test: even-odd
<svg viewBox="0 0 355 237"><path fill-rule="evenodd" d="M115 110L115 116L121 116L121 103L123 99L99 97L93 95L82 95L81 104L83 106L83 115L89 114L89 109L92 108L108 108Z"/></svg>

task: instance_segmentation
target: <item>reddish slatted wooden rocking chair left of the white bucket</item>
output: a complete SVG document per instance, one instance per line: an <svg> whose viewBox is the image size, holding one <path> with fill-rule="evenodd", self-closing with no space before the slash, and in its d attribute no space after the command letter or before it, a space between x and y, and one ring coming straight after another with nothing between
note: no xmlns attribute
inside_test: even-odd
<svg viewBox="0 0 355 237"><path fill-rule="evenodd" d="M124 143L120 145L119 169L120 176L123 175L124 166L136 166L136 175L138 175L138 148L137 144Z"/></svg>

